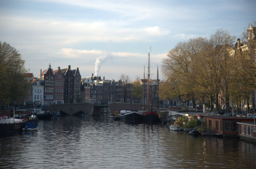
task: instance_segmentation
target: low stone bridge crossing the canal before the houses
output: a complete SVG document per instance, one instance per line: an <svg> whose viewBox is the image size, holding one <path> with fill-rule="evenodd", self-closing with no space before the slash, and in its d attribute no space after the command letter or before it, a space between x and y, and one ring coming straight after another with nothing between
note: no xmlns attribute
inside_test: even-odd
<svg viewBox="0 0 256 169"><path fill-rule="evenodd" d="M93 103L72 103L72 104L56 104L47 108L47 111L57 112L62 111L69 115L79 115L87 113L88 115L100 115L100 113L109 112L114 115L114 111L121 111L124 109L134 109L142 111L143 105L131 103L108 103L107 105L95 105Z"/></svg>

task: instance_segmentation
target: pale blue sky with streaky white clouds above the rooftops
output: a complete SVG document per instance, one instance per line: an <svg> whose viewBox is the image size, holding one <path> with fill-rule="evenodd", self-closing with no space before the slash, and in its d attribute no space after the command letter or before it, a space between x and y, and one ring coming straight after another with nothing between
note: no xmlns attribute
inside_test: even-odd
<svg viewBox="0 0 256 169"><path fill-rule="evenodd" d="M0 41L16 48L34 77L79 68L82 78L165 77L162 59L179 42L217 29L241 37L255 0L0 0ZM149 50L151 48L151 50ZM145 77L147 77L145 75Z"/></svg>

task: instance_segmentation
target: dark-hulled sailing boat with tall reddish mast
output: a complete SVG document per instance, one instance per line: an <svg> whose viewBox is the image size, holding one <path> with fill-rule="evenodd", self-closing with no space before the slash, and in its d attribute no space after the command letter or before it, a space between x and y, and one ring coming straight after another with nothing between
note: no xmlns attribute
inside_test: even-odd
<svg viewBox="0 0 256 169"><path fill-rule="evenodd" d="M157 112L153 112L153 97L152 97L152 108L151 111L149 111L149 81L150 81L150 73L149 73L149 59L150 59L150 50L151 47L149 47L149 53L148 53L148 112L143 113L142 115L142 121L148 124L157 124L160 121L160 118L158 116ZM145 78L144 78L145 79ZM144 82L145 84L145 82ZM144 87L145 89L145 87ZM145 93L145 92L144 92ZM145 100L144 100L145 103Z"/></svg>

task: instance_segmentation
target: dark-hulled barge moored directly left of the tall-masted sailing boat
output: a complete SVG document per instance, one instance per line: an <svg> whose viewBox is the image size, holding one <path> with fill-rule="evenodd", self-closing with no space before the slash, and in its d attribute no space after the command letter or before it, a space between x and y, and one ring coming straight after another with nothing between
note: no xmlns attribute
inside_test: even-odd
<svg viewBox="0 0 256 169"><path fill-rule="evenodd" d="M142 122L142 113L133 110L120 111L119 117L124 122Z"/></svg>

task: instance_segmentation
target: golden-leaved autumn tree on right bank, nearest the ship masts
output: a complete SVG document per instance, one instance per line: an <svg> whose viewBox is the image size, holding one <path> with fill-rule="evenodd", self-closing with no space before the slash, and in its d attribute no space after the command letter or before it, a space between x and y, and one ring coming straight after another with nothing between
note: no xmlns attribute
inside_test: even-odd
<svg viewBox="0 0 256 169"><path fill-rule="evenodd" d="M162 70L167 82L160 87L160 98L179 98L182 102L192 100L196 108L196 99L200 89L196 84L196 60L206 43L205 38L194 38L187 42L178 43L162 60Z"/></svg>

